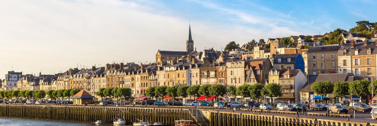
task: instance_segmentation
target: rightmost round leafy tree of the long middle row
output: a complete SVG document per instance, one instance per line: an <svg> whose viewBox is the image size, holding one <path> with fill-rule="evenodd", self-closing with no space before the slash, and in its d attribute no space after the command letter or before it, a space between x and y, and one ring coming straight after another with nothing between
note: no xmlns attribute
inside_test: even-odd
<svg viewBox="0 0 377 126"><path fill-rule="evenodd" d="M273 97L280 97L283 95L281 86L277 83L268 83L265 85L264 89L262 90L262 94L270 97L271 99Z"/></svg>

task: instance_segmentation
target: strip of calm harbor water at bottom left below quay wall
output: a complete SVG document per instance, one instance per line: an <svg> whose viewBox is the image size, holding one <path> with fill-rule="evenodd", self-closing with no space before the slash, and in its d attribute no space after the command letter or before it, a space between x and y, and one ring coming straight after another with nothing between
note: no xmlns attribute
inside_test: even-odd
<svg viewBox="0 0 377 126"><path fill-rule="evenodd" d="M0 117L0 126L131 126Z"/></svg>

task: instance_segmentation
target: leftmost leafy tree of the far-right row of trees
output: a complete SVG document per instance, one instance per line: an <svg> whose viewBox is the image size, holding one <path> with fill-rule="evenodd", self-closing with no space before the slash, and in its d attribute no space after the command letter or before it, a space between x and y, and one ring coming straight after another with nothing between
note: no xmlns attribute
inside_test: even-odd
<svg viewBox="0 0 377 126"><path fill-rule="evenodd" d="M323 96L326 96L327 94L333 93L334 91L334 84L330 81L317 81L313 83L313 86L311 86L311 90L319 94L321 96L321 99L323 100Z"/></svg>

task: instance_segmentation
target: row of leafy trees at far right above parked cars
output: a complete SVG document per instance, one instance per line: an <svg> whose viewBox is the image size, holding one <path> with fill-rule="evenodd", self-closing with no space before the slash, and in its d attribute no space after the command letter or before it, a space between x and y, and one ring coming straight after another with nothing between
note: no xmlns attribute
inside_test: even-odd
<svg viewBox="0 0 377 126"><path fill-rule="evenodd" d="M373 82L373 94L377 93L377 81ZM355 80L353 82L335 82L331 83L330 81L318 81L314 82L311 90L319 94L321 99L323 96L328 94L334 94L334 97L341 97L343 98L346 95L350 95L351 93L355 96L360 96L360 100L363 96L369 96L372 94L372 83L368 80Z"/></svg>

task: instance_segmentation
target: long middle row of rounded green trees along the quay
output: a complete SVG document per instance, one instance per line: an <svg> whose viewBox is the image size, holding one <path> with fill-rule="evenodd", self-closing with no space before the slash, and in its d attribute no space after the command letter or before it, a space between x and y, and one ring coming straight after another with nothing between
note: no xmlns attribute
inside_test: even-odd
<svg viewBox="0 0 377 126"><path fill-rule="evenodd" d="M236 88L234 85L230 85L228 88L222 84L216 85L193 85L193 86L156 86L149 87L146 90L146 96L148 97L188 97L192 96L194 99L199 96L218 96L224 97L225 95L251 97L252 99L259 99L262 95L268 97L280 97L282 96L282 90L277 83L268 83L267 85L256 83L253 85L244 84Z"/></svg>

